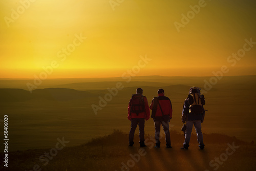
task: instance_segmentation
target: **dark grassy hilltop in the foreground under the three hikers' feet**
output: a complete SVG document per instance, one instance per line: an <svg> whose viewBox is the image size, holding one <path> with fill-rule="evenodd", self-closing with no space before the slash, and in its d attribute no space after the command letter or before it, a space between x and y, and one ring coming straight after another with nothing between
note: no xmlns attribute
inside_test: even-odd
<svg viewBox="0 0 256 171"><path fill-rule="evenodd" d="M192 135L188 150L180 149L184 136L171 132L173 148L165 148L164 137L160 148L154 148L154 137L145 137L147 147L139 147L139 137L135 136L133 147L128 146L128 135L115 130L108 136L94 138L88 143L63 147L30 149L9 152L8 169L1 170L255 170L256 146L236 137L220 134L204 134L204 151L197 146L196 135ZM231 149L229 145L236 148ZM59 145L60 147L61 145ZM229 147L229 148L228 148ZM228 149L227 149L228 148ZM50 157L42 157L44 153ZM51 156L53 154L53 156ZM228 155L227 155L228 154ZM0 154L3 157L3 153ZM45 164L45 165L44 165Z"/></svg>

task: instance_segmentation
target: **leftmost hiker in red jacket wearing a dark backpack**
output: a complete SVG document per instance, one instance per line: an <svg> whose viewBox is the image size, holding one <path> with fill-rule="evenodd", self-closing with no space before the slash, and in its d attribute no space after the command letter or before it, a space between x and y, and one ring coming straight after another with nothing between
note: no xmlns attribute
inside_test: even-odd
<svg viewBox="0 0 256 171"><path fill-rule="evenodd" d="M138 88L136 94L133 94L130 99L128 106L128 116L127 118L131 121L131 130L129 133L129 146L133 146L134 142L134 133L137 125L139 124L139 137L140 137L140 146L146 146L144 141L144 126L145 119L150 119L150 108L145 96L142 95L143 90Z"/></svg>

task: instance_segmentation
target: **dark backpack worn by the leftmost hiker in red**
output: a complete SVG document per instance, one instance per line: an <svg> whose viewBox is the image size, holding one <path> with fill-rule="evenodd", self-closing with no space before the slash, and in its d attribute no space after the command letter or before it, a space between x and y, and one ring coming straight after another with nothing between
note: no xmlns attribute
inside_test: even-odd
<svg viewBox="0 0 256 171"><path fill-rule="evenodd" d="M142 94L133 94L131 99L131 113L139 113L145 111L144 97Z"/></svg>

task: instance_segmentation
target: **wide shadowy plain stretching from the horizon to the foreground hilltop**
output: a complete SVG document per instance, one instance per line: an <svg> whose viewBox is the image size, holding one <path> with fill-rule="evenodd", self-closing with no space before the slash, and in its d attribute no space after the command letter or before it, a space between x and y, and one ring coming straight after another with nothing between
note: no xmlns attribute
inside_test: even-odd
<svg viewBox="0 0 256 171"><path fill-rule="evenodd" d="M204 79L209 78L152 76L134 77L131 82L125 82L122 78L103 79L104 82L101 79L73 79L75 82L72 79L62 82L45 80L51 85L39 86L33 93L20 89L24 88L21 85L26 85L24 80L0 80L0 114L2 118L6 114L9 118L9 150L51 147L58 137L69 140L67 146L75 146L94 137L108 135L113 129L128 133L130 121L126 118L127 104L138 87L144 90L143 95L149 104L157 96L159 88L165 90L174 109L170 129L180 132L182 104L189 87L203 88ZM223 77L205 94L205 109L208 112L202 124L204 133L221 133L247 142L256 141L255 78ZM118 81L122 81L124 88L118 90L117 95L95 115L91 105L99 105L99 97L104 98L109 93L106 89L115 87ZM20 90L6 89L9 87ZM55 89L40 90L51 87ZM152 119L145 123L145 133L154 135Z"/></svg>

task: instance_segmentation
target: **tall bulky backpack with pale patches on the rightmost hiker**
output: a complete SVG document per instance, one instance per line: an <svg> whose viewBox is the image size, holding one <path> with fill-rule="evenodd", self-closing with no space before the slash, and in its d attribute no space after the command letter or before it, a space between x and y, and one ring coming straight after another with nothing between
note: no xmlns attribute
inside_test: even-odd
<svg viewBox="0 0 256 171"><path fill-rule="evenodd" d="M201 89L191 87L188 94L189 113L203 114L203 105L205 104L204 95L200 93Z"/></svg>

